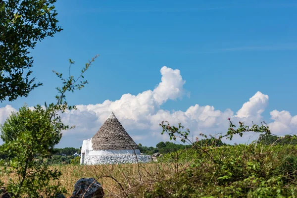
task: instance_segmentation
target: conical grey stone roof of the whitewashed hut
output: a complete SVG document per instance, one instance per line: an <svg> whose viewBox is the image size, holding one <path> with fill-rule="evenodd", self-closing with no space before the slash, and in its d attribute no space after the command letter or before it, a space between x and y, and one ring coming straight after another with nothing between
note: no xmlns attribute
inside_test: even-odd
<svg viewBox="0 0 297 198"><path fill-rule="evenodd" d="M113 112L92 138L94 150L139 149Z"/></svg>

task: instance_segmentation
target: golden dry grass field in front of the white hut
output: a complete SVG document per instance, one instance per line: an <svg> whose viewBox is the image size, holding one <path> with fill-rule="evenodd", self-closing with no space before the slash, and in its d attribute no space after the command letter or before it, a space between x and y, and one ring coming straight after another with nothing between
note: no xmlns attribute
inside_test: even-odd
<svg viewBox="0 0 297 198"><path fill-rule="evenodd" d="M125 197L126 192L133 192L142 184L153 183L160 177L170 177L175 172L173 164L146 163L146 164L113 164L113 165L55 165L51 166L61 171L59 179L67 191L66 198L71 196L74 184L81 178L93 177L98 179L104 190L104 197ZM180 168L180 166L179 166ZM10 178L0 176L4 183Z"/></svg>

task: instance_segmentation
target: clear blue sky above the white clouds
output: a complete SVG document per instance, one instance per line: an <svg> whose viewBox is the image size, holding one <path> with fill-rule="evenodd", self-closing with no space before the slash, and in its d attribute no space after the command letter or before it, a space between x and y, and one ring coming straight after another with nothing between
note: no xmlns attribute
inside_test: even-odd
<svg viewBox="0 0 297 198"><path fill-rule="evenodd" d="M275 109L297 115L296 1L58 0L56 10L64 30L32 50L33 74L44 86L0 107L52 101L59 81L51 70L67 73L71 58L75 74L100 54L85 75L86 88L68 96L71 104L95 105L153 90L166 65L180 70L190 96L168 99L160 109L185 112L199 104L236 114L259 91L269 96L262 120L272 122ZM151 139L156 140L139 142L159 141Z"/></svg>

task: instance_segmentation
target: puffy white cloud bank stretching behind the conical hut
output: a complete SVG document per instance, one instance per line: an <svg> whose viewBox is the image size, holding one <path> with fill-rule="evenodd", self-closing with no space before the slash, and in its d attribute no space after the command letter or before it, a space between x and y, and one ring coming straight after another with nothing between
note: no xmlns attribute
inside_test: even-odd
<svg viewBox="0 0 297 198"><path fill-rule="evenodd" d="M167 120L171 125L179 122L189 128L193 137L199 133L212 135L224 133L229 127L228 118L234 123L238 121L259 124L262 113L268 105L269 97L261 92L255 93L236 112L231 109L216 110L214 106L199 106L195 104L186 111L169 111L161 105L167 100L181 99L187 95L184 89L186 81L180 70L163 66L160 70L161 82L153 89L138 95L124 94L115 101L105 100L99 104L77 105L77 110L62 115L64 123L75 125L75 129L63 132L63 138L58 147L79 148L84 139L94 136L111 111L122 123L135 142L142 145L155 146L160 141L167 141L168 136L161 135L159 123ZM0 108L0 124L4 123L11 111L16 111L11 105ZM288 111L273 110L270 112L272 122L268 123L273 134L285 135L294 133L297 129L297 115ZM255 134L246 134L244 138L235 137L233 142L245 143L257 138Z"/></svg>

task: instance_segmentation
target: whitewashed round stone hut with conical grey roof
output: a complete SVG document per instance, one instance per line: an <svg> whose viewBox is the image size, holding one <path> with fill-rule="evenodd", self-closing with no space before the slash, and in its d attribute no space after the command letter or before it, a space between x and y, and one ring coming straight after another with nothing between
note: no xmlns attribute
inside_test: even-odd
<svg viewBox="0 0 297 198"><path fill-rule="evenodd" d="M83 141L81 164L118 164L151 161L142 155L113 112L93 138Z"/></svg>

